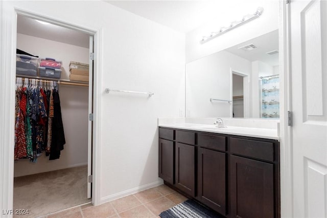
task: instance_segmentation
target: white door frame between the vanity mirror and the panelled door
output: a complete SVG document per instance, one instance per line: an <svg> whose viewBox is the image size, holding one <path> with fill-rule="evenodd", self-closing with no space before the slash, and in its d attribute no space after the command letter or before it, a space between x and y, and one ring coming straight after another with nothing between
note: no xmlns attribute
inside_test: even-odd
<svg viewBox="0 0 327 218"><path fill-rule="evenodd" d="M293 145L291 126L288 126L288 111L292 110L291 57L290 57L290 5L279 1L279 82L280 93L280 186L281 217L293 217Z"/></svg>

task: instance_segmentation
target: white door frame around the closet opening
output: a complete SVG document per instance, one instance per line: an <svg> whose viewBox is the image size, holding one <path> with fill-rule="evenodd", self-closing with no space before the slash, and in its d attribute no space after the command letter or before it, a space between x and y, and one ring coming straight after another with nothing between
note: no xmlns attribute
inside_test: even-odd
<svg viewBox="0 0 327 218"><path fill-rule="evenodd" d="M89 29L88 27L79 26L77 24L66 23L57 20L54 17L49 17L45 14L36 14L32 11L21 10L17 8L3 9L2 8L1 31L4 35L1 36L1 74L0 80L3 82L0 86L0 91L6 95L0 96L2 105L0 107L0 126L4 129L0 132L0 198L2 200L0 208L10 210L13 208L13 178L14 178L14 111L15 111L15 60L16 60L16 38L17 38L17 15L22 15L30 18L36 18L46 21L51 24L62 26L65 28L81 31L94 36L94 81L93 81L93 133L92 133L92 204L100 204L100 105L101 105L101 45L102 45L102 29ZM5 146L10 145L10 146ZM5 166L5 167L3 167ZM0 217L6 216L0 214Z"/></svg>

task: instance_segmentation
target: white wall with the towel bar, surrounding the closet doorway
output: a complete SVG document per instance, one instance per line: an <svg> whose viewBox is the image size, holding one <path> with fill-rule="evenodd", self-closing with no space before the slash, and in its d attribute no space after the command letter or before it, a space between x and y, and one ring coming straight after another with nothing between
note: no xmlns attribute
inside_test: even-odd
<svg viewBox="0 0 327 218"><path fill-rule="evenodd" d="M45 17L64 21L91 30L97 30L100 43L96 61L96 79L101 81L101 93L97 98L100 114L96 116L99 141L99 185L95 196L97 203L135 192L140 188L158 185L158 131L157 117L176 117L184 108L185 35L150 20L126 12L102 1L3 2L1 24L2 60L13 60L11 31L15 20L14 8L33 12ZM74 10L72 10L74 9ZM8 57L8 58L7 58ZM2 69L10 69L3 66ZM11 79L13 72L5 72L1 79ZM104 92L105 88L153 92L148 98L143 95ZM10 85L0 86L3 100L14 106L14 93ZM99 91L100 92L100 91ZM9 95L11 96L11 95ZM5 108L0 107L1 112ZM7 112L7 111L6 111ZM14 112L9 111L9 115ZM4 125L13 126L13 120L5 119ZM98 138L97 138L98 139ZM13 131L3 139L13 146ZM10 149L2 149L10 151ZM9 157L11 154L3 154ZM3 160L10 160L4 158ZM9 162L6 162L5 167ZM3 171L6 173L5 171ZM10 175L0 175L1 181ZM8 178L8 177L6 177ZM9 190L10 182L7 184ZM1 190L5 190L4 187ZM10 204L10 197L5 201ZM9 200L8 200L9 199ZM2 199L3 201L3 199Z"/></svg>

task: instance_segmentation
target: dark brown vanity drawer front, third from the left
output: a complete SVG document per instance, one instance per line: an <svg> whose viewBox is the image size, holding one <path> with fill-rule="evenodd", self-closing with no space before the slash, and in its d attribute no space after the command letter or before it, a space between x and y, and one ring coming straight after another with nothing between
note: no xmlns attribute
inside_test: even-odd
<svg viewBox="0 0 327 218"><path fill-rule="evenodd" d="M207 134L198 134L198 145L200 147L212 148L215 150L226 150L226 137Z"/></svg>

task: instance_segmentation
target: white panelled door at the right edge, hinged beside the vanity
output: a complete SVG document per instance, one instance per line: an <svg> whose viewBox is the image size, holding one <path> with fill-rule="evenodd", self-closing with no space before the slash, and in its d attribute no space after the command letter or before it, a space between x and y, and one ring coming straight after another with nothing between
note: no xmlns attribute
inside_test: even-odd
<svg viewBox="0 0 327 218"><path fill-rule="evenodd" d="M294 217L327 217L326 5L290 3Z"/></svg>

